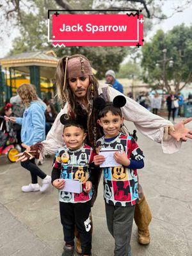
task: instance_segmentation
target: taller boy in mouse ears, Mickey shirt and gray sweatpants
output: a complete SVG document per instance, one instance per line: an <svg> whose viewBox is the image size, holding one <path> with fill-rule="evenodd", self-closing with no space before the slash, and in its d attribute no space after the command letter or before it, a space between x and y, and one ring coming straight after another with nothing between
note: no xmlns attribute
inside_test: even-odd
<svg viewBox="0 0 192 256"><path fill-rule="evenodd" d="M136 141L120 131L124 122L120 108L125 103L124 96L115 97L113 103L106 103L102 98L97 98L94 102L99 111L97 122L105 134L97 141L98 152L101 148L116 149L113 157L119 164L103 168L106 218L108 230L115 239L115 256L131 255L134 207L139 200L137 169L144 166L143 152ZM94 156L96 166L104 161L102 152Z"/></svg>

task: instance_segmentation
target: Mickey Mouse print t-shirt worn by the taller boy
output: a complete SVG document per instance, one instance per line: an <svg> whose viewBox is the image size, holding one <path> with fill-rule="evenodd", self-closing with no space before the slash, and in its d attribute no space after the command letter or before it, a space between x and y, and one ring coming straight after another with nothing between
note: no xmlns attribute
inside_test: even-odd
<svg viewBox="0 0 192 256"><path fill-rule="evenodd" d="M122 150L134 164L129 166L105 167L104 170L104 200L107 204L116 206L131 206L138 202L138 175L136 166L143 163L143 152L129 135L122 132L112 141L104 136L97 141L97 149L113 148ZM141 167L142 168L142 167Z"/></svg>

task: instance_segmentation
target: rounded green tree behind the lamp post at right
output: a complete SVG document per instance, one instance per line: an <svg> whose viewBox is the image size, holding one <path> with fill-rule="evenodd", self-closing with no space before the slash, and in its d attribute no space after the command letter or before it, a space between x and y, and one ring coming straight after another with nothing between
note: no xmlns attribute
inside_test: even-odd
<svg viewBox="0 0 192 256"><path fill-rule="evenodd" d="M164 49L167 61L162 61ZM141 65L147 75L144 77L145 82L153 83L167 92L170 92L172 85L175 92L179 92L191 82L192 26L182 24L167 33L157 31L152 41L144 45L142 52ZM170 67L170 59L173 60L173 67Z"/></svg>

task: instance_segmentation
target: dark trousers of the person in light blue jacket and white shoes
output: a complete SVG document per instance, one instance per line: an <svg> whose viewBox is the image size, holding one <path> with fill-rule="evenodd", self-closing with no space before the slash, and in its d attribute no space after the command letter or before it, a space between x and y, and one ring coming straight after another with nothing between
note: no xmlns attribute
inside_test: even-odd
<svg viewBox="0 0 192 256"><path fill-rule="evenodd" d="M22 148L22 152L24 152L24 150L25 148ZM31 173L32 184L36 184L38 182L37 177L45 179L45 177L47 176L44 172L42 172L42 170L40 170L40 168L38 168L38 166L36 166L35 158L24 162L20 161L20 165Z"/></svg>

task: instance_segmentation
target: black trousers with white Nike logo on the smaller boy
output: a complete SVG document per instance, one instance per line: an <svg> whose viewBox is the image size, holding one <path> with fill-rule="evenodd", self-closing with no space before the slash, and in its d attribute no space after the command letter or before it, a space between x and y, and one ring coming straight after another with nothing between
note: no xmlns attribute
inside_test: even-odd
<svg viewBox="0 0 192 256"><path fill-rule="evenodd" d="M64 203L60 202L61 224L63 225L64 241L74 246L75 225L79 232L82 255L90 255L92 250L92 223L90 220L91 202Z"/></svg>

